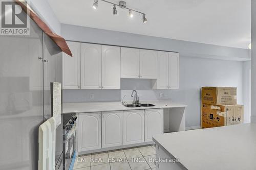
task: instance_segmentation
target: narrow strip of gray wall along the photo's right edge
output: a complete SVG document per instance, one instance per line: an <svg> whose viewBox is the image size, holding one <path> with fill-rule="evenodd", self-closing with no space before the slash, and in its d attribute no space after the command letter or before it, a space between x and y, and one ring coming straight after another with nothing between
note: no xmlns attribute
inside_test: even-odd
<svg viewBox="0 0 256 170"><path fill-rule="evenodd" d="M256 123L256 0L251 1L251 122Z"/></svg>

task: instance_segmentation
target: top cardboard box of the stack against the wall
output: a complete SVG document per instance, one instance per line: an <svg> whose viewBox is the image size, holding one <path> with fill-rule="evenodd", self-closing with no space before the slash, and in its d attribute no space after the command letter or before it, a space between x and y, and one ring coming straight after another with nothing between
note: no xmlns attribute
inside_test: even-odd
<svg viewBox="0 0 256 170"><path fill-rule="evenodd" d="M236 87L202 87L201 100L209 105L236 105Z"/></svg>

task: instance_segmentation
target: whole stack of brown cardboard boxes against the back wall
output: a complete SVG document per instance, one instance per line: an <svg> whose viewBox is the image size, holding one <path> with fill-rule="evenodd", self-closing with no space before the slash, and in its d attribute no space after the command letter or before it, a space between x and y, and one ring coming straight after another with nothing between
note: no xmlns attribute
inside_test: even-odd
<svg viewBox="0 0 256 170"><path fill-rule="evenodd" d="M237 105L237 88L202 87L201 127L243 123L243 105Z"/></svg>

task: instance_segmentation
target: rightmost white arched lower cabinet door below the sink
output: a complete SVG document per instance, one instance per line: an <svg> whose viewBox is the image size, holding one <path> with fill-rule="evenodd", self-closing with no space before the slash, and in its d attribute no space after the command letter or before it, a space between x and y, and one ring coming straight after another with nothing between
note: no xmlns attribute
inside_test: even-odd
<svg viewBox="0 0 256 170"><path fill-rule="evenodd" d="M156 134L163 134L163 109L145 110L145 142Z"/></svg>

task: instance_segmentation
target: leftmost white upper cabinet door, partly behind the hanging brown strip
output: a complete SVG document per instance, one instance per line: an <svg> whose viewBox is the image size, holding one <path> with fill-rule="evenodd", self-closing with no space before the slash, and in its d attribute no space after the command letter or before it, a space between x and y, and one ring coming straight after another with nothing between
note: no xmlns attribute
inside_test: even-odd
<svg viewBox="0 0 256 170"><path fill-rule="evenodd" d="M62 88L63 89L80 89L81 86L81 43L67 42L72 56L66 53L62 54Z"/></svg>

